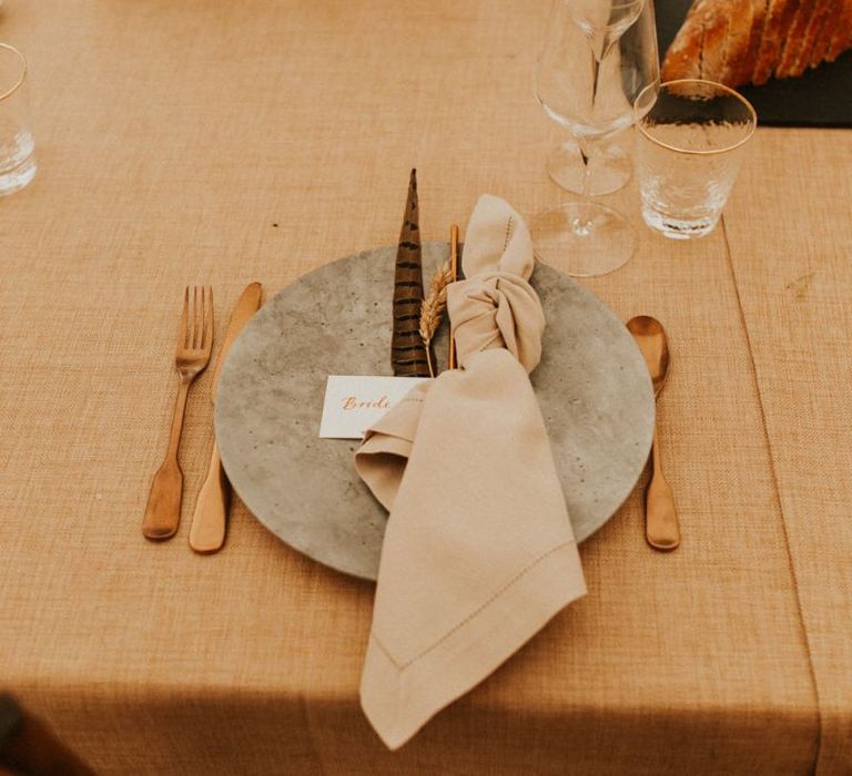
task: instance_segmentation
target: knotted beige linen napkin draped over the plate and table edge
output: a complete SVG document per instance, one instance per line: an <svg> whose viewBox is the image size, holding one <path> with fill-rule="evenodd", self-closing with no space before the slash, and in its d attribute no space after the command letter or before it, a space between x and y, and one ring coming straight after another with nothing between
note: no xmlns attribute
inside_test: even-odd
<svg viewBox="0 0 852 776"><path fill-rule="evenodd" d="M528 377L545 327L532 245L503 200L477 203L463 265L460 368L416 386L355 458L390 510L361 702L392 749L586 592Z"/></svg>

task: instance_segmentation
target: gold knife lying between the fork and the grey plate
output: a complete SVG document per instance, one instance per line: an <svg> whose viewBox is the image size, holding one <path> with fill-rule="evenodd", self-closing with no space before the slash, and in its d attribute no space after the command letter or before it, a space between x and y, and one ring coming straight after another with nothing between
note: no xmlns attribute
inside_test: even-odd
<svg viewBox="0 0 852 776"><path fill-rule="evenodd" d="M233 345L243 326L260 309L262 295L263 286L260 283L250 284L237 299L231 313L231 320L227 323L227 330L225 331L225 341L222 345L222 353L219 354L216 369L213 372L213 389L210 398L214 407L216 405L216 390L219 390L219 376L222 371L222 364L224 364L227 350ZM190 529L190 547L195 552L204 554L219 552L222 549L222 544L225 543L229 494L227 477L222 468L222 460L219 457L219 445L214 437L207 477L199 491L199 498L195 501L195 512L192 515L192 528Z"/></svg>

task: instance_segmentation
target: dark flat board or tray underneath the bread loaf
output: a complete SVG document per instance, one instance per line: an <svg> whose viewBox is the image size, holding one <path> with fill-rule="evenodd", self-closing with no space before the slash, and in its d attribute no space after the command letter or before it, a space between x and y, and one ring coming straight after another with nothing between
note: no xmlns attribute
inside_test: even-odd
<svg viewBox="0 0 852 776"><path fill-rule="evenodd" d="M666 54L686 19L691 0L657 0L657 37ZM738 89L769 126L852 126L852 51L801 78L770 80Z"/></svg>

